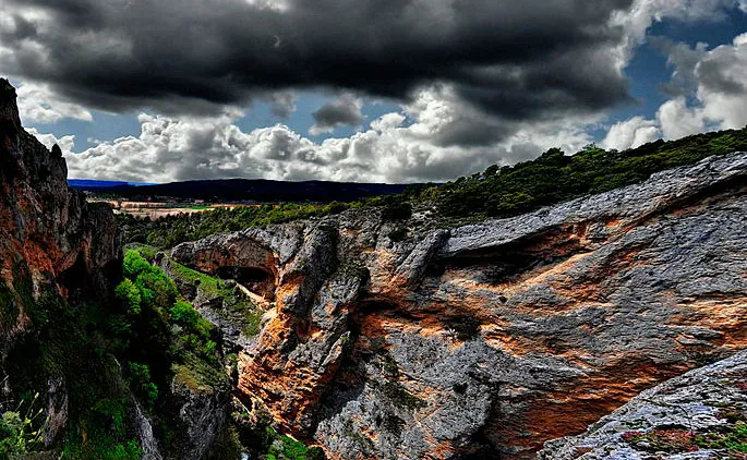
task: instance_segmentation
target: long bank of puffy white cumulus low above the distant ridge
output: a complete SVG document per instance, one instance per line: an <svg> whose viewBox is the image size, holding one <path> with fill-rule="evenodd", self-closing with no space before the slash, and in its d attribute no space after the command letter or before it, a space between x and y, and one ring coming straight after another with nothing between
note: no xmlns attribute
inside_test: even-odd
<svg viewBox="0 0 747 460"><path fill-rule="evenodd" d="M167 182L188 179L325 179L359 182L444 181L508 165L562 146L576 152L592 141L579 120L526 122L492 143L442 142L477 117L424 90L402 112L387 113L350 137L313 142L284 124L243 132L241 113L214 118L141 114L141 133L67 154L71 177ZM466 111L467 110L467 111ZM413 120L406 124L407 119ZM455 128L456 123L456 128ZM491 131L493 125L484 126Z"/></svg>

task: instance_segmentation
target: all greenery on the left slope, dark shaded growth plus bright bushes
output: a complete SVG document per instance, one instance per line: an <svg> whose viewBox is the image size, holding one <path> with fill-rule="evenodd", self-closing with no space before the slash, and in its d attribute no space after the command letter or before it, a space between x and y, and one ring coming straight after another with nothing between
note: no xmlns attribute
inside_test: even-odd
<svg viewBox="0 0 747 460"><path fill-rule="evenodd" d="M19 308L33 323L5 360L19 397L0 405L0 458L45 448L40 433L49 417L39 391L48 391L53 376L63 377L69 398L67 435L50 446L61 459L140 459L131 395L153 420L161 447L179 451L185 429L172 388L228 391L217 335L174 282L134 251L124 258L123 274L116 302L106 305L68 302L51 291L35 300L22 264L12 288L0 283L0 324L13 324Z"/></svg>

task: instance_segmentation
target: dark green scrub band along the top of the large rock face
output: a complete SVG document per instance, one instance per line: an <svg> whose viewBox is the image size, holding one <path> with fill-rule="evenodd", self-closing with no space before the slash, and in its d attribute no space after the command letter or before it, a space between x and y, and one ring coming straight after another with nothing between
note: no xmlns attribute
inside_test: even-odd
<svg viewBox="0 0 747 460"><path fill-rule="evenodd" d="M171 247L209 234L289 220L322 217L350 207L381 207L388 220L410 217L411 207L435 210L442 225L508 217L586 194L642 182L652 173L695 164L711 155L747 150L747 128L656 141L617 152L589 145L575 155L552 148L515 166L492 166L482 173L443 185L409 186L400 195L352 204L281 204L179 215L155 221L120 216L128 242ZM398 237L398 235L396 235Z"/></svg>

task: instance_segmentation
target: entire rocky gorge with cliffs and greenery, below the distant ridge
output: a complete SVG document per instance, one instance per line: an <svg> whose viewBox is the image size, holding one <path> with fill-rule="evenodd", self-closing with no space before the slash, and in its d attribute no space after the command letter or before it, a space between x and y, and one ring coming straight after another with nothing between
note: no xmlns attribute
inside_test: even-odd
<svg viewBox="0 0 747 460"><path fill-rule="evenodd" d="M2 81L0 452L740 459L746 150L731 130L116 216Z"/></svg>

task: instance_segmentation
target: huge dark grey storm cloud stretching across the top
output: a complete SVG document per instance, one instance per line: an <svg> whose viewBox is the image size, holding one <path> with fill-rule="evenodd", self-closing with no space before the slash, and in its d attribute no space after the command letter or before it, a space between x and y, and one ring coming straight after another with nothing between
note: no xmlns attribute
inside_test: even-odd
<svg viewBox="0 0 747 460"><path fill-rule="evenodd" d="M611 52L622 31L606 24L631 1L4 0L51 22L14 16L0 63L115 111L302 87L405 100L442 82L490 114L542 119L627 99Z"/></svg>

